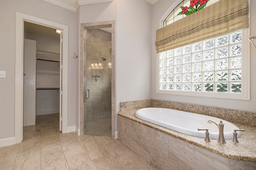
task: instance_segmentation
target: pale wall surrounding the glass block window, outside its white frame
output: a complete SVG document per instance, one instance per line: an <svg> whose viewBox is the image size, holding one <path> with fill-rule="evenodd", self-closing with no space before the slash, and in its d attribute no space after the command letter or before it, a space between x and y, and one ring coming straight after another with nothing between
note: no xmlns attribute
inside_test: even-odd
<svg viewBox="0 0 256 170"><path fill-rule="evenodd" d="M198 104L203 106L221 107L227 109L237 109L243 111L256 111L256 49L250 45L250 97L251 100L232 100L221 98L205 98L194 96L178 96L168 94L156 94L156 29L160 28L160 20L167 15L167 12L173 9L180 0L160 0L152 6L152 57L151 57L151 98L156 100L166 100L173 102L183 102L189 104ZM250 5L250 36L256 35L256 1L251 0ZM254 43L255 40L254 40Z"/></svg>

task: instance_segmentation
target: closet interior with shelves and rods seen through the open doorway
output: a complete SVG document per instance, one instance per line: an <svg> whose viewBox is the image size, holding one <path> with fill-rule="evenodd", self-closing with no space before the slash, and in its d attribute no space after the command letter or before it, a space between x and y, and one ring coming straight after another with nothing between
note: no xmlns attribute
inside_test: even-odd
<svg viewBox="0 0 256 170"><path fill-rule="evenodd" d="M62 34L24 22L24 132L40 120L61 131Z"/></svg>

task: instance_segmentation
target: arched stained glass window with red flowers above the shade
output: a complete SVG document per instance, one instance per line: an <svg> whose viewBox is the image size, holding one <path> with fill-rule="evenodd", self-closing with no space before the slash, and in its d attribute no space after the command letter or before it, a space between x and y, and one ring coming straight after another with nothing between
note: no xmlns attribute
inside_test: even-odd
<svg viewBox="0 0 256 170"><path fill-rule="evenodd" d="M205 8L219 0L182 0L175 8L168 14L163 21L163 26L169 25L175 21L178 21L193 12L196 12L202 8ZM207 2L207 3L206 3ZM192 9L194 8L194 9Z"/></svg>

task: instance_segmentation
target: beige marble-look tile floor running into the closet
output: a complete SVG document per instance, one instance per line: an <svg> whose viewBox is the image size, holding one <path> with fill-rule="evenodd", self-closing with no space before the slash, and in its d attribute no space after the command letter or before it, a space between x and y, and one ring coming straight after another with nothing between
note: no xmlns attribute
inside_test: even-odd
<svg viewBox="0 0 256 170"><path fill-rule="evenodd" d="M0 170L156 170L118 140L58 128L59 114L37 116L22 143L0 147Z"/></svg>

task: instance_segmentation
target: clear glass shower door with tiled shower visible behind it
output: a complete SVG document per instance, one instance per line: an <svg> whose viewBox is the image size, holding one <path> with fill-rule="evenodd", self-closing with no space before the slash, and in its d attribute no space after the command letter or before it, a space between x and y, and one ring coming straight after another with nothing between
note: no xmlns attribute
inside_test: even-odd
<svg viewBox="0 0 256 170"><path fill-rule="evenodd" d="M112 136L112 33L86 29L84 43L84 134Z"/></svg>

